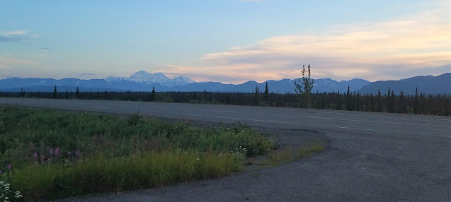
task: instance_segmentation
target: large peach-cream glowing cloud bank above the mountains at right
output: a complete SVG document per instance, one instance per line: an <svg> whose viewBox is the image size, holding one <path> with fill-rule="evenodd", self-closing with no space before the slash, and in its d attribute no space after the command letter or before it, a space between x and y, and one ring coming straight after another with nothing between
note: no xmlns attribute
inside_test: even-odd
<svg viewBox="0 0 451 202"><path fill-rule="evenodd" d="M449 7L389 21L335 26L328 32L270 37L205 54L199 66L165 66L160 71L232 83L299 78L302 64L312 65L314 78L337 80L436 75L446 71L440 67L451 64Z"/></svg>

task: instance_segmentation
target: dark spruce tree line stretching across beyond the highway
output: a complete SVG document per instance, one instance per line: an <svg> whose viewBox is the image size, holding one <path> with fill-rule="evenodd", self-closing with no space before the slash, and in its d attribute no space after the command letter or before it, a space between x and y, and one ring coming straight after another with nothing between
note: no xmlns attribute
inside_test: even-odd
<svg viewBox="0 0 451 202"><path fill-rule="evenodd" d="M308 72L308 71L307 71ZM307 81L308 83L308 81ZM309 84L313 86L313 82ZM301 86L302 87L302 86ZM217 105L248 105L264 107L292 107L312 109L336 109L360 112L389 112L399 114L428 114L451 116L451 96L426 95L416 90L415 95L396 95L392 90L372 93L355 93L348 88L347 92L312 93L312 88L301 88L298 93L270 93L266 83L263 92L256 87L253 93L227 92L59 92L55 86L53 92L2 92L3 97L35 97L48 99L80 99L80 100L129 100L142 102L178 102ZM307 93L308 92L308 93ZM299 94L300 93L300 94ZM300 95L300 96L299 96Z"/></svg>

